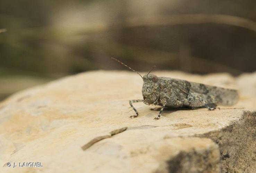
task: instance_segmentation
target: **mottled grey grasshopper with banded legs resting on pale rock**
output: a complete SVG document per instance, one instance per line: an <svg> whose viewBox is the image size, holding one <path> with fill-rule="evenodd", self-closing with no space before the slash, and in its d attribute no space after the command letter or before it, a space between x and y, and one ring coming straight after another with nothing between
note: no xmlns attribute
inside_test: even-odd
<svg viewBox="0 0 256 173"><path fill-rule="evenodd" d="M125 65L115 58L112 59ZM131 69L129 66L125 66ZM131 70L136 72L133 69ZM237 90L188 82L180 79L157 77L154 74L149 74L150 72L143 77L136 72L142 77L144 82L142 86L143 100L129 100L130 106L136 112L136 115L130 116L130 118L135 118L139 115L132 104L135 102L162 106L158 116L154 118L154 120L157 120L160 118L164 107L189 107L192 109L206 107L208 110L214 110L217 104L233 105L238 101ZM212 107L210 107L210 105Z"/></svg>

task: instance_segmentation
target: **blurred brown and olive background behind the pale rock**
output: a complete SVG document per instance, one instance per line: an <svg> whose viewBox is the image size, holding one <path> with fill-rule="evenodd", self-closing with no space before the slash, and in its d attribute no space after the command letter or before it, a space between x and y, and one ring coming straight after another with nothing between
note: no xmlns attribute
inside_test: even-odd
<svg viewBox="0 0 256 173"><path fill-rule="evenodd" d="M0 100L89 70L256 70L255 0L0 0Z"/></svg>

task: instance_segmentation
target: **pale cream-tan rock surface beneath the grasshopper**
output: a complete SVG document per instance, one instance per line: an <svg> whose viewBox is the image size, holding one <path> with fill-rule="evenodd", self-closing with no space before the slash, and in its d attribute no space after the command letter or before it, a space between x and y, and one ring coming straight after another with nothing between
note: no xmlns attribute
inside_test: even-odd
<svg viewBox="0 0 256 173"><path fill-rule="evenodd" d="M240 100L215 111L166 109L157 121L157 107L135 103L139 117L129 119L128 100L142 99L136 73L69 76L0 103L0 172L256 172L256 73L154 74L238 89Z"/></svg>

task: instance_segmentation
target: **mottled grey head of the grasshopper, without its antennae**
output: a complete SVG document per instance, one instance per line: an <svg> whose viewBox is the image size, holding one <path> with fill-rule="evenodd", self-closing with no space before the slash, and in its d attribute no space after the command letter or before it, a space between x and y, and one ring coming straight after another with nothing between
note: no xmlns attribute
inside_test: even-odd
<svg viewBox="0 0 256 173"><path fill-rule="evenodd" d="M147 74L143 76L142 95L146 103L153 104L159 100L160 84L156 75Z"/></svg>

